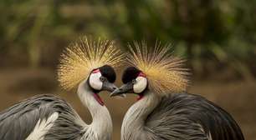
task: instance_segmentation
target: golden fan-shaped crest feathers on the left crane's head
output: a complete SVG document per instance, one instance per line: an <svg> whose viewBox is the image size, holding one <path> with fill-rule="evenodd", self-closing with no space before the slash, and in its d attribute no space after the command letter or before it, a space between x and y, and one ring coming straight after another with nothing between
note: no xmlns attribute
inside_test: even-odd
<svg viewBox="0 0 256 140"><path fill-rule="evenodd" d="M119 67L123 58L123 53L112 41L80 37L60 56L57 69L60 87L70 90L87 78L95 68L104 65Z"/></svg>

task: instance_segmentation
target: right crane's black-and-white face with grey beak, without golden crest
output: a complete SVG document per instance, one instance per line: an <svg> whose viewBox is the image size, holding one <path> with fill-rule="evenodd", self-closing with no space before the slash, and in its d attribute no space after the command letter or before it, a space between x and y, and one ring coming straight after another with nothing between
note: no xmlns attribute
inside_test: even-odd
<svg viewBox="0 0 256 140"><path fill-rule="evenodd" d="M122 82L124 83L121 87L111 92L110 96L120 95L122 93L135 93L140 97L147 88L146 74L136 67L127 67L122 75Z"/></svg>

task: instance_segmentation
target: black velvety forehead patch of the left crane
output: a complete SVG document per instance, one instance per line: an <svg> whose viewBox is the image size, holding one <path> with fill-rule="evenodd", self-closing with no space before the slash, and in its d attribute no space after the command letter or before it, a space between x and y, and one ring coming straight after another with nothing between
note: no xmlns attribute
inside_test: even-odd
<svg viewBox="0 0 256 140"><path fill-rule="evenodd" d="M113 67L110 67L109 65L104 65L99 68L100 73L103 77L106 77L109 82L115 82L115 70Z"/></svg>

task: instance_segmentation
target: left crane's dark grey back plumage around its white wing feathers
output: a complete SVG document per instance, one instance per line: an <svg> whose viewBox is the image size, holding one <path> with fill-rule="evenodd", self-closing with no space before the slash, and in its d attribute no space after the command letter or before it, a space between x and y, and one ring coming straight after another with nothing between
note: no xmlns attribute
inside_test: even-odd
<svg viewBox="0 0 256 140"><path fill-rule="evenodd" d="M82 137L83 126L76 123L79 117L69 103L53 95L39 95L18 102L13 107L0 112L0 139L27 138L39 118L47 118L53 112L59 112L59 117L44 137L46 140L72 140Z"/></svg>

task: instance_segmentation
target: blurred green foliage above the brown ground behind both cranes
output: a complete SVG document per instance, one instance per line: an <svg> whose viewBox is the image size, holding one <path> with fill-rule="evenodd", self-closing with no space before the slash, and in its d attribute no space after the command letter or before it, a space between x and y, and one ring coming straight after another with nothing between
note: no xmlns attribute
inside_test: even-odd
<svg viewBox="0 0 256 140"><path fill-rule="evenodd" d="M0 62L53 66L71 40L92 34L123 47L174 42L195 72L256 69L256 0L2 0L0 13Z"/></svg>

